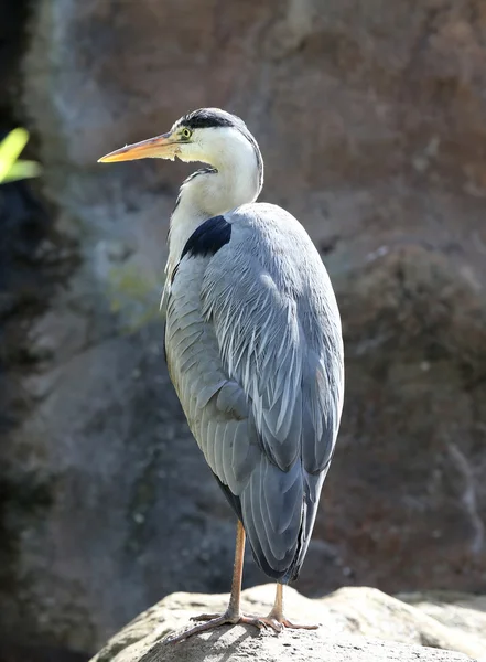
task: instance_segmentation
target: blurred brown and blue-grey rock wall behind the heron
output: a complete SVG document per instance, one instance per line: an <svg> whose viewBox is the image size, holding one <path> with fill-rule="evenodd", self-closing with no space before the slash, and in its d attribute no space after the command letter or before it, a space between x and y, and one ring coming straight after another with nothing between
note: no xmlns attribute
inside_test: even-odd
<svg viewBox="0 0 486 662"><path fill-rule="evenodd" d="M93 652L172 591L228 588L234 517L158 316L191 170L96 163L201 106L247 121L261 199L307 228L342 310L296 588L485 592L484 3L3 0L0 84L0 130L26 126L44 167L0 189L0 640Z"/></svg>

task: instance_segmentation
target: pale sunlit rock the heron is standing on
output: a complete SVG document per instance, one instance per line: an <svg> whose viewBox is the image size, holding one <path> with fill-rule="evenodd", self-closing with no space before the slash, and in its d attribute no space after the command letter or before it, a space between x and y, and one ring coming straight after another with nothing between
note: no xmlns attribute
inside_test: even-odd
<svg viewBox="0 0 486 662"><path fill-rule="evenodd" d="M245 591L244 610L268 613L273 595L272 585ZM296 622L320 623L315 631L287 630L276 636L267 631L256 632L255 628L248 626L236 626L224 627L175 645L164 643L170 632L185 629L192 616L220 611L227 600L228 596L169 596L123 628L91 662L219 662L248 658L259 661L292 659L328 662L466 660L465 655L458 653L486 660L486 630L478 631L477 637L471 632L450 632L421 610L368 588L343 588L322 600L310 600L288 589L288 617ZM482 616L486 621L486 615ZM450 651L445 652L445 649Z"/></svg>

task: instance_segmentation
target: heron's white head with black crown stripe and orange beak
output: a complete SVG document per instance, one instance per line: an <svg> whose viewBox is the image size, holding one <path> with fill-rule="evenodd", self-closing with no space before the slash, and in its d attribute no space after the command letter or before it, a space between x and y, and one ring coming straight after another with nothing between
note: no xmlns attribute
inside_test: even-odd
<svg viewBox="0 0 486 662"><path fill-rule="evenodd" d="M262 170L261 154L246 124L219 108L199 108L184 115L168 134L149 138L106 154L99 161L171 159L199 161L216 169L235 157L252 158Z"/></svg>

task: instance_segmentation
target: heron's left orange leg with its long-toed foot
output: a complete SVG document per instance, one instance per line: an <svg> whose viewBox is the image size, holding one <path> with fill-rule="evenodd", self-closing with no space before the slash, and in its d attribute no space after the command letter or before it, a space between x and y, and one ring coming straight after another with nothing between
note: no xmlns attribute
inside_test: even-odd
<svg viewBox="0 0 486 662"><path fill-rule="evenodd" d="M262 628L267 628L269 624L273 629L277 629L273 624L264 622L264 619L260 619L253 616L242 616L240 611L240 598L241 598L241 577L242 577L242 567L244 567L244 556L245 556L245 528L242 527L241 522L238 520L238 527L236 530L236 552L235 552L235 566L233 569L233 581L231 581L231 595L229 597L228 608L225 613L203 613L202 616L197 616L192 620L203 620L207 621L205 623L201 623L199 626L194 626L190 628L185 632L181 634L176 634L175 637L169 637L165 639L165 643L177 643L179 641L183 641L193 634L198 634L199 632L206 632L207 630L213 630L214 628L218 628L219 626L225 624L234 624L244 623L248 626L255 626L260 630ZM279 626L279 629L281 626Z"/></svg>

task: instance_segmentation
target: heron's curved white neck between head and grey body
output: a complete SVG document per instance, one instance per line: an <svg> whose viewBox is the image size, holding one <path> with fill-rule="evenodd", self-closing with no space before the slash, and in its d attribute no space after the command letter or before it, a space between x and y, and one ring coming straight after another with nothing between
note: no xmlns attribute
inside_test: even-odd
<svg viewBox="0 0 486 662"><path fill-rule="evenodd" d="M244 148L239 147L218 153L212 159L214 167L195 172L182 184L171 216L168 275L179 263L187 239L202 223L258 197L263 180L260 151L256 143L253 147L248 141Z"/></svg>

